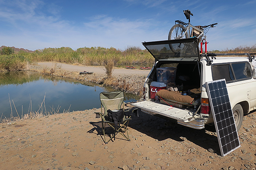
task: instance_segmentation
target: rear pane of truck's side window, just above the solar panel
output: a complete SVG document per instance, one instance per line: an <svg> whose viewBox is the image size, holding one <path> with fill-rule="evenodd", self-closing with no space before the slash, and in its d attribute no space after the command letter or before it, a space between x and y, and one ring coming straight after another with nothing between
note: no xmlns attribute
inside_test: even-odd
<svg viewBox="0 0 256 170"><path fill-rule="evenodd" d="M226 65L212 65L212 80L226 79L226 82L234 80L231 67Z"/></svg>

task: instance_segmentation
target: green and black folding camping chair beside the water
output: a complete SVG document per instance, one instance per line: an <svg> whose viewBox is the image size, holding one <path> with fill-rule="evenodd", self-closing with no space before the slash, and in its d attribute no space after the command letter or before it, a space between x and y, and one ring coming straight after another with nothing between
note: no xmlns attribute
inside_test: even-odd
<svg viewBox="0 0 256 170"><path fill-rule="evenodd" d="M118 133L128 141L131 141L128 136L127 127L129 121L131 120L132 114L137 113L138 108L133 108L131 110L124 109L124 93L122 91L102 92L99 94L99 98L101 102L101 113L95 113L96 118L102 118L102 133L104 136L104 139L102 139L104 140L105 144L108 144L111 139L115 139ZM104 108L104 112L102 112L102 108ZM111 113L113 115L111 115ZM115 121L111 118L111 116ZM108 127L106 127L106 125L108 125ZM106 142L105 133L109 129L114 130L114 132L113 136L110 136L110 139L108 139ZM125 132L127 135L125 135Z"/></svg>

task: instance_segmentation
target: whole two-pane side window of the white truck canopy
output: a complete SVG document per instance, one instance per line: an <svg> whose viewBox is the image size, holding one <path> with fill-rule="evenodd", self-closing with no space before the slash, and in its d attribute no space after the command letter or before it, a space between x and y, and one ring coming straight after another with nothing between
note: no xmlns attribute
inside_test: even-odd
<svg viewBox="0 0 256 170"><path fill-rule="evenodd" d="M251 67L248 62L212 65L212 79L226 79L226 82L251 78Z"/></svg>

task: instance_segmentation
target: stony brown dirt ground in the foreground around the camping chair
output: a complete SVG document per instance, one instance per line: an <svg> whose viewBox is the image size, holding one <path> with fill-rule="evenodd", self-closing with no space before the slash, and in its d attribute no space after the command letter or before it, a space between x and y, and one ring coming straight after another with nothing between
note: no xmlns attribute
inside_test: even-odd
<svg viewBox="0 0 256 170"><path fill-rule="evenodd" d="M195 130L143 112L129 122L131 141L118 134L105 144L94 112L0 124L0 170L256 170L256 112L244 116L241 147L224 157L214 126Z"/></svg>

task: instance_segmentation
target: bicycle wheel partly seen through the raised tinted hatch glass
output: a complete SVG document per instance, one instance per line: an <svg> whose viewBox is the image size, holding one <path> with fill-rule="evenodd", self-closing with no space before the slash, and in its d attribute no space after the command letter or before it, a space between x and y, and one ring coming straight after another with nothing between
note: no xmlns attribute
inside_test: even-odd
<svg viewBox="0 0 256 170"><path fill-rule="evenodd" d="M188 33L183 25L175 24L169 31L168 40L179 40L183 38L188 38ZM174 53L179 53L184 48L184 44L169 44L170 49Z"/></svg>

